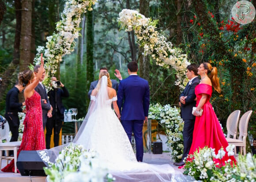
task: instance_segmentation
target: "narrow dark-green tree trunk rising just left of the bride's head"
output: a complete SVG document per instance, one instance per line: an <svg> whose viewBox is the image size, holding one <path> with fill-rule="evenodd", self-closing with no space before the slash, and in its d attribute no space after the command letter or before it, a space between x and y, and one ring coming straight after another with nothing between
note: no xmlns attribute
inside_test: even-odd
<svg viewBox="0 0 256 182"><path fill-rule="evenodd" d="M87 91L90 88L90 82L94 80L94 15L93 11L86 13L86 44L87 44Z"/></svg>

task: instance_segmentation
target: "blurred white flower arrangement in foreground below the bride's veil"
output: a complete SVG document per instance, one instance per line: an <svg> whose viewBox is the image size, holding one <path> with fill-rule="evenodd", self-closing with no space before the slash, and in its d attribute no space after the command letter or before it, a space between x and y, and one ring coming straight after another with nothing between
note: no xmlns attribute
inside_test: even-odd
<svg viewBox="0 0 256 182"><path fill-rule="evenodd" d="M48 161L45 153L40 157ZM47 160L48 159L48 160ZM107 168L98 159L95 151L87 151L83 146L70 143L62 149L55 163L48 162L49 167L44 167L48 182L108 182L115 178L107 173Z"/></svg>

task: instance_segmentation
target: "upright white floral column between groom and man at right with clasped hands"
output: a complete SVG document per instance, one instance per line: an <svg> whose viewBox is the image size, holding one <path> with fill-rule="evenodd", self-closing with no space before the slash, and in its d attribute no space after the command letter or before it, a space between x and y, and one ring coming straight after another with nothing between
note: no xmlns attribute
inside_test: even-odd
<svg viewBox="0 0 256 182"><path fill-rule="evenodd" d="M184 122L180 116L180 109L167 104L163 107L160 117L162 118L160 124L166 129L167 146L172 149L171 159L180 161L184 149L182 135Z"/></svg>

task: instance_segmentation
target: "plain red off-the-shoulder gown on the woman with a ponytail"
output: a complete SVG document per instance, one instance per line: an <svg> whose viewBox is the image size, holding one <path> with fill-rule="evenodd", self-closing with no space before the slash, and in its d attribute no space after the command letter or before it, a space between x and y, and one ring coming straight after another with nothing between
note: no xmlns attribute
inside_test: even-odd
<svg viewBox="0 0 256 182"><path fill-rule="evenodd" d="M198 106L202 94L207 94L207 100L203 105L202 116L196 116L195 127L193 132L193 141L188 154L193 154L199 147L202 149L204 146L215 149L215 153L218 154L218 150L223 147L226 151L228 142L223 134L222 128L218 122L218 118L209 102L212 94L212 87L208 84L199 84L195 88L196 94L196 106ZM225 165L224 161L231 159L236 163L233 156L229 157L227 152L222 160L216 159L215 162ZM231 161L231 162L232 162Z"/></svg>

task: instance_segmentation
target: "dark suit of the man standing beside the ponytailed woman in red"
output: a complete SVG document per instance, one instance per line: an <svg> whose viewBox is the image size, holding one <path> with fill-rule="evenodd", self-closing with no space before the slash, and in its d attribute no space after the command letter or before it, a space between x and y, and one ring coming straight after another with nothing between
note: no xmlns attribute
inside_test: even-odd
<svg viewBox="0 0 256 182"><path fill-rule="evenodd" d="M187 96L185 99L185 104L181 103L181 117L184 120L184 128L183 128L183 144L184 150L182 155L182 161L185 157L187 157L189 153L189 149L192 144L193 131L195 125L196 116L192 115L192 108L196 106L196 95L195 95L195 87L200 83L199 77L196 77L192 80L192 83L187 84L184 91L181 93L181 96Z"/></svg>

